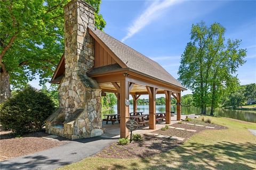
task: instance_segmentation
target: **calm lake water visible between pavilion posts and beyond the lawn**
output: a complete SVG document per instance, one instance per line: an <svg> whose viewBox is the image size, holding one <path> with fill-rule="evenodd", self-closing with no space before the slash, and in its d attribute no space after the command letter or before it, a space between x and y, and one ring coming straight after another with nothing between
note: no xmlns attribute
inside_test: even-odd
<svg viewBox="0 0 256 170"><path fill-rule="evenodd" d="M138 105L137 110L148 113L148 105ZM172 106L172 110L174 110L176 113L176 108L174 106ZM210 112L210 108L207 108L206 110L207 110L207 112ZM132 112L132 111L133 111L133 106L130 105L130 112ZM156 106L156 112L164 112L164 111L165 111L165 106L159 106L159 105ZM189 114L200 115L200 112L201 112L201 110L199 108L192 107L192 106L190 106L190 107L182 106L182 108L181 108L182 115L189 115ZM102 115L115 114L115 113L117 113L116 105L114 106L113 109L102 112ZM218 109L216 109L214 115L256 123L256 111L229 110L229 109L218 108Z"/></svg>

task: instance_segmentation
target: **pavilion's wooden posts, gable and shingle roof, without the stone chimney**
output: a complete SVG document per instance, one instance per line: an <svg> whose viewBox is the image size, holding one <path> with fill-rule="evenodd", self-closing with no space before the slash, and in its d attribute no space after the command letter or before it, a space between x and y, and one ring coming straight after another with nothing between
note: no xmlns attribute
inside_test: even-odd
<svg viewBox="0 0 256 170"><path fill-rule="evenodd" d="M89 27L94 39L94 67L87 75L95 79L102 92L114 93L120 114L120 135L129 135L125 123L129 120L129 107L125 101L133 97L133 111L137 111L137 100L142 94L149 95L149 128L156 128L156 94L165 94L166 124L171 122L171 96L177 100L177 120L181 115L181 91L186 90L169 72L157 62L147 58L131 47L102 31ZM65 74L62 59L52 77L52 83L60 83Z"/></svg>

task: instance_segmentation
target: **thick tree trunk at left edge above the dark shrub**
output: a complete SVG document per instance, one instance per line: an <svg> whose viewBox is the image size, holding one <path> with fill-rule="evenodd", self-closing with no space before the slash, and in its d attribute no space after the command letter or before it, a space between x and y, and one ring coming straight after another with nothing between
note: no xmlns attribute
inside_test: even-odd
<svg viewBox="0 0 256 170"><path fill-rule="evenodd" d="M11 97L9 73L0 72L0 103Z"/></svg>

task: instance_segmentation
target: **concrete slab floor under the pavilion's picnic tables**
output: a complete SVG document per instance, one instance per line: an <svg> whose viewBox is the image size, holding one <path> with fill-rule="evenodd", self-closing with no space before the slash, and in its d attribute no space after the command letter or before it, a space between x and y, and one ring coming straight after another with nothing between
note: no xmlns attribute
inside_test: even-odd
<svg viewBox="0 0 256 170"><path fill-rule="evenodd" d="M185 119L186 115L181 115L181 119ZM175 123L178 123L179 121L177 120L176 115L171 117L171 124L172 125ZM115 124L113 125L111 122L106 124L106 122L102 122L102 128L104 129L104 134L101 135L102 137L108 137L108 138L119 138L120 137L120 124L116 121ZM156 129L149 129L148 123L146 126L140 126L136 131L133 131L133 133L138 133L138 134L146 134L146 133L151 133L154 132L158 129L161 129L164 127L166 124L164 121L161 121L159 123L156 123Z"/></svg>

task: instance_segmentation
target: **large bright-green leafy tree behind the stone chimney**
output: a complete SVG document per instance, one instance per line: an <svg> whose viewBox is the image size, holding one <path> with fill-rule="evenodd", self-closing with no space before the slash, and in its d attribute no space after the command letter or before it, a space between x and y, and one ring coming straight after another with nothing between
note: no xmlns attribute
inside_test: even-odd
<svg viewBox="0 0 256 170"><path fill-rule="evenodd" d="M52 76L63 51L63 6L70 0L0 1L0 102L11 96L10 84L26 85L39 75ZM106 25L101 0L86 0L95 9L95 26Z"/></svg>

